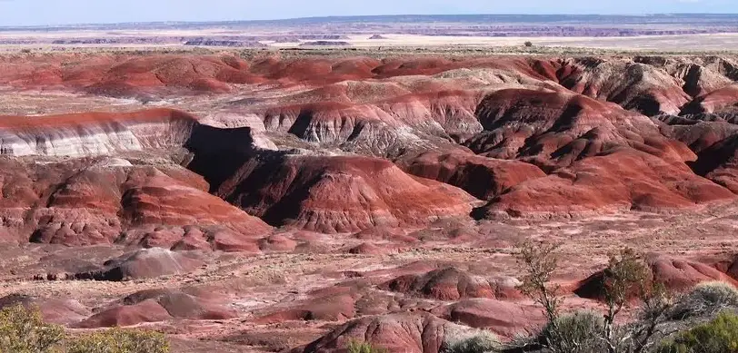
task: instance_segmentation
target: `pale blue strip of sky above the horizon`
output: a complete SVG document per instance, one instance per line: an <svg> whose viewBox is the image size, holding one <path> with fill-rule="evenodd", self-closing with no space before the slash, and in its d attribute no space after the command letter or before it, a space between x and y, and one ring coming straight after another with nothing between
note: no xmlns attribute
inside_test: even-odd
<svg viewBox="0 0 738 353"><path fill-rule="evenodd" d="M324 15L738 13L738 0L0 0L0 26Z"/></svg>

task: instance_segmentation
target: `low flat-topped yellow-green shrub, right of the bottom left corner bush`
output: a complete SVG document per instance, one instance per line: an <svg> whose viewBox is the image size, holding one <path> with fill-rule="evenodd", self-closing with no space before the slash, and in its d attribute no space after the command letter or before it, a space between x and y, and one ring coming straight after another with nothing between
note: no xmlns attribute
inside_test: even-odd
<svg viewBox="0 0 738 353"><path fill-rule="evenodd" d="M112 328L69 343L68 353L167 353L169 342L158 332Z"/></svg>

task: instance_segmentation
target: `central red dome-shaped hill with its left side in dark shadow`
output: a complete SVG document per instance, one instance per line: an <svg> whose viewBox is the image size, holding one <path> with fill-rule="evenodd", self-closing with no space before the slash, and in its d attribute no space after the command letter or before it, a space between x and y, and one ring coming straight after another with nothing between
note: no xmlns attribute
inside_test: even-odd
<svg viewBox="0 0 738 353"><path fill-rule="evenodd" d="M475 201L464 191L374 158L267 153L230 170L227 162L234 156L206 155L192 168L205 175L216 195L279 226L328 233L414 227L464 217Z"/></svg>

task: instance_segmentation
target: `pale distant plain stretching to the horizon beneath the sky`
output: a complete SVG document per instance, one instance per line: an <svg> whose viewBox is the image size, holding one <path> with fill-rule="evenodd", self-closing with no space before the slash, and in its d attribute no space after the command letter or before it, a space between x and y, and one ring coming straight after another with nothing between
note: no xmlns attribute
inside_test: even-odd
<svg viewBox="0 0 738 353"><path fill-rule="evenodd" d="M325 17L228 23L0 27L0 51L194 48L738 50L738 15Z"/></svg>

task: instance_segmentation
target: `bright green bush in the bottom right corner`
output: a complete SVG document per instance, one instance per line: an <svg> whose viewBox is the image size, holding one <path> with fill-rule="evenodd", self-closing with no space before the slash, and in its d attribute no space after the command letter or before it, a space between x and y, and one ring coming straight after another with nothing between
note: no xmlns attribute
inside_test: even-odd
<svg viewBox="0 0 738 353"><path fill-rule="evenodd" d="M738 316L722 313L713 321L679 334L659 353L737 353Z"/></svg>

